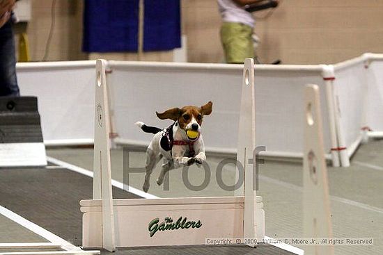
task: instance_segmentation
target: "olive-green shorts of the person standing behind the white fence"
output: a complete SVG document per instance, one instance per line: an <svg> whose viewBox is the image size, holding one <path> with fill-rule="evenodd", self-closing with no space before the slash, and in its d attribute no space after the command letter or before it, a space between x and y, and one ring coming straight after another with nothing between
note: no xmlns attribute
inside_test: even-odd
<svg viewBox="0 0 383 255"><path fill-rule="evenodd" d="M254 58L251 38L253 29L240 23L224 22L221 26L221 42L226 63L244 63L245 58Z"/></svg>

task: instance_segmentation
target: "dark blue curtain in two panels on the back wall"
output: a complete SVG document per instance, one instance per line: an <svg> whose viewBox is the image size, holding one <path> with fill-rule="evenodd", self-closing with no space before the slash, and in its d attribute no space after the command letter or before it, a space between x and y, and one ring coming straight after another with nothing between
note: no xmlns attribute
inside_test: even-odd
<svg viewBox="0 0 383 255"><path fill-rule="evenodd" d="M180 0L144 1L143 51L181 47ZM83 50L137 51L139 0L86 0Z"/></svg>

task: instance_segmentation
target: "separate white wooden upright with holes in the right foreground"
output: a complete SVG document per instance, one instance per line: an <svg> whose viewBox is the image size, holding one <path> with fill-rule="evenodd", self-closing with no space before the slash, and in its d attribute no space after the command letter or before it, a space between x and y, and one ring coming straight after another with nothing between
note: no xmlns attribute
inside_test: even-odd
<svg viewBox="0 0 383 255"><path fill-rule="evenodd" d="M304 238L332 238L327 167L322 135L318 85L304 90L303 207ZM330 245L308 245L304 254L334 254Z"/></svg>

